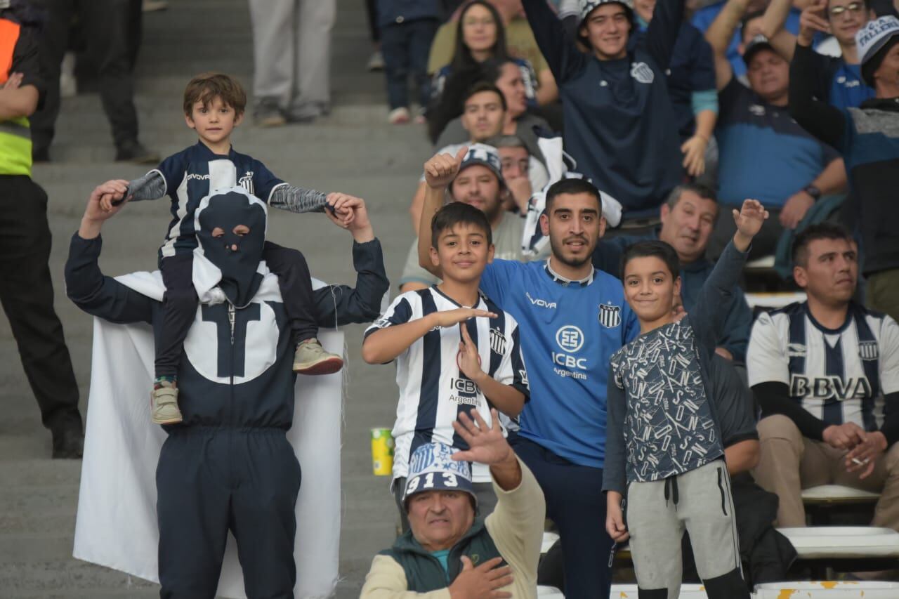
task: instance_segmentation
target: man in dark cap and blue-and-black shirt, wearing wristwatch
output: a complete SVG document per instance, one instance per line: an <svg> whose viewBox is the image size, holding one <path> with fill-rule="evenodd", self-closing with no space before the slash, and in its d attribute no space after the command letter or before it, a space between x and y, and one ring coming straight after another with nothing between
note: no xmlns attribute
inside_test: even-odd
<svg viewBox="0 0 899 599"><path fill-rule="evenodd" d="M734 236L733 219L723 218L745 198L770 212L752 240L750 256L774 253L784 229L794 229L819 198L843 192L842 158L797 125L788 112L789 63L763 36L744 40L749 88L742 85L725 53L750 0L728 0L706 39L715 54L718 86L718 213L708 252L720 255ZM729 221L728 221L729 220Z"/></svg>

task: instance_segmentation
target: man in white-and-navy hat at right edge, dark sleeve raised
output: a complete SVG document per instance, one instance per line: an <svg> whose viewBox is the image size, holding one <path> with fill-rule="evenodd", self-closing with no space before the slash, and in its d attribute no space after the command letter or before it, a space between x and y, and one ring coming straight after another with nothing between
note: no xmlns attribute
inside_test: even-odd
<svg viewBox="0 0 899 599"><path fill-rule="evenodd" d="M899 19L882 16L856 33L861 76L875 97L838 109L814 99L810 42L800 35L790 67L789 110L816 138L837 148L859 202L862 273L868 308L899 318Z"/></svg>

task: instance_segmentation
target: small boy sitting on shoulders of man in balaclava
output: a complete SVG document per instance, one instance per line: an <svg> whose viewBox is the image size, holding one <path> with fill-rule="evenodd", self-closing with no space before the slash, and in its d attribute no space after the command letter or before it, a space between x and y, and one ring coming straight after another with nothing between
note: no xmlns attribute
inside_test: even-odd
<svg viewBox="0 0 899 599"><path fill-rule="evenodd" d="M172 199L172 222L159 248L159 270L165 282L165 326L156 334L156 379L151 392L153 422L172 425L182 421L178 408L176 374L184 338L197 311L193 286L193 253L197 248L194 212L200 201L217 189L240 185L270 206L291 212L322 211L342 201L341 193L325 195L295 187L278 179L252 156L231 147L231 132L244 117L246 94L232 76L203 73L184 90L184 120L200 141L128 184L125 201ZM105 194L101 205L110 211L113 196ZM341 214L349 218L348 214ZM219 231L219 237L238 237L240 231ZM296 344L293 370L301 374L330 374L343 367L343 359L325 352L318 343L318 326L311 315L312 280L306 259L296 250L265 243L263 260L278 275L281 297ZM241 308L237 306L236 308Z"/></svg>

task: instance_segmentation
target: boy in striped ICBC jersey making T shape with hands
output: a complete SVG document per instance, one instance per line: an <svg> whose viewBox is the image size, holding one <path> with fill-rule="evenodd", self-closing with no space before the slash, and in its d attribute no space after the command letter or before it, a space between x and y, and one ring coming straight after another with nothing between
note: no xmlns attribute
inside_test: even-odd
<svg viewBox="0 0 899 599"><path fill-rule="evenodd" d="M460 413L496 407L514 417L530 397L518 323L478 291L494 255L484 212L453 202L434 216L431 233L431 258L443 281L397 297L362 344L369 364L397 360L393 489L404 532L401 497L415 449L438 442L467 450L452 426ZM475 464L473 475L477 503L490 513L496 497L489 469Z"/></svg>

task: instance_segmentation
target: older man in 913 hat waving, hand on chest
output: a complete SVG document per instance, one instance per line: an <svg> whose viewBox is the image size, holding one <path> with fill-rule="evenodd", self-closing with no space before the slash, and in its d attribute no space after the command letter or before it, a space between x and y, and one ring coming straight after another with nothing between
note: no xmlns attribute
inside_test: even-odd
<svg viewBox="0 0 899 599"><path fill-rule="evenodd" d="M360 597L537 597L537 562L546 503L537 479L477 410L453 428L468 444L456 451L426 443L409 460L403 505L410 530L371 562ZM475 422L477 425L475 425ZM468 461L490 466L498 503L476 518ZM416 595L418 596L418 595Z"/></svg>

